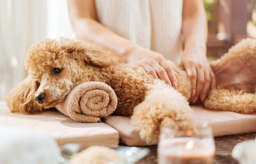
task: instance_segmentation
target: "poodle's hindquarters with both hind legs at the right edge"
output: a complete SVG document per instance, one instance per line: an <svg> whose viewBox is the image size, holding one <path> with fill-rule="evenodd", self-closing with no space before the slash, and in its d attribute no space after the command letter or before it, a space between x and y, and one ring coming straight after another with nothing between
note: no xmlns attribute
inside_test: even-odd
<svg viewBox="0 0 256 164"><path fill-rule="evenodd" d="M221 59L210 64L217 90L211 90L204 105L208 109L240 113L256 112L256 40L244 39Z"/></svg>

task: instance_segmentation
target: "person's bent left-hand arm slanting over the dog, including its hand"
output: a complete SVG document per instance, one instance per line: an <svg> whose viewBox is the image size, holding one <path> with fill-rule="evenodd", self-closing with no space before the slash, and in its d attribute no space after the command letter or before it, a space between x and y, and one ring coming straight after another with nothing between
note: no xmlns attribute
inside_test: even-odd
<svg viewBox="0 0 256 164"><path fill-rule="evenodd" d="M99 44L119 55L124 62L140 66L154 78L163 79L168 85L177 87L176 73L161 54L118 36L97 21L94 0L68 0L68 7L78 39Z"/></svg>

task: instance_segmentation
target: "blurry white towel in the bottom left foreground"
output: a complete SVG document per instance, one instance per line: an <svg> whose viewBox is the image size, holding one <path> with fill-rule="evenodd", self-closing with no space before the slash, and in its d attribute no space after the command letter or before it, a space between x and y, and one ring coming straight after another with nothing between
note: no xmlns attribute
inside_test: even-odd
<svg viewBox="0 0 256 164"><path fill-rule="evenodd" d="M0 125L0 163L57 164L60 156L54 138Z"/></svg>

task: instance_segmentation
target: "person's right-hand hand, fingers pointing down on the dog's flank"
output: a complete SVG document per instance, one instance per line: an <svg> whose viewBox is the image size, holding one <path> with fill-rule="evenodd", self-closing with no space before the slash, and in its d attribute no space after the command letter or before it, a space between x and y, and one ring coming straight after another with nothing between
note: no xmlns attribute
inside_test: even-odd
<svg viewBox="0 0 256 164"><path fill-rule="evenodd" d="M195 104L200 96L201 101L206 99L208 90L215 89L216 79L206 59L206 50L184 50L181 56L181 66L187 71L191 80L192 94L190 101Z"/></svg>

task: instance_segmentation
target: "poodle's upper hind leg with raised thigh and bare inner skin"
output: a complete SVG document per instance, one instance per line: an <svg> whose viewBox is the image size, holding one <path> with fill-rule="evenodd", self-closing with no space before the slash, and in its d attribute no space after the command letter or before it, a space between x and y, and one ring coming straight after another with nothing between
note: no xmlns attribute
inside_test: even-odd
<svg viewBox="0 0 256 164"><path fill-rule="evenodd" d="M217 89L244 90L255 93L256 85L256 40L244 39L222 56L210 63L214 71ZM233 87L239 84L240 87ZM243 84L243 87L241 85Z"/></svg>

